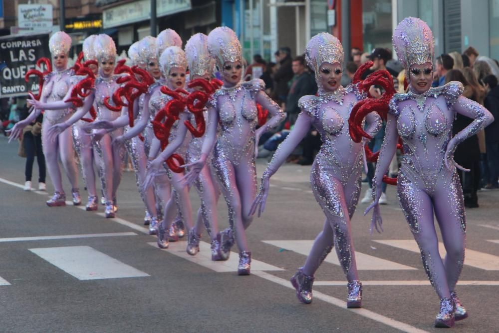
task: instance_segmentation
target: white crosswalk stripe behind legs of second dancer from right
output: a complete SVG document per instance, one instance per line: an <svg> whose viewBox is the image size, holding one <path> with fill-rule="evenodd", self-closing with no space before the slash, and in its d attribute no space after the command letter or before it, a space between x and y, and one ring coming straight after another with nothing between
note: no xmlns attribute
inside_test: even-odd
<svg viewBox="0 0 499 333"><path fill-rule="evenodd" d="M312 250L313 240L302 241L262 241L263 243L270 244L276 246L281 249L290 250L305 256L308 256L310 250ZM355 251L355 260L357 261L357 269L358 270L383 270L383 271L391 271L391 270L417 270L417 268L402 265L395 263L393 261L377 258L374 256L370 256L358 251ZM334 264L340 266L338 261L338 257L334 250L329 256L324 260L327 263Z"/></svg>

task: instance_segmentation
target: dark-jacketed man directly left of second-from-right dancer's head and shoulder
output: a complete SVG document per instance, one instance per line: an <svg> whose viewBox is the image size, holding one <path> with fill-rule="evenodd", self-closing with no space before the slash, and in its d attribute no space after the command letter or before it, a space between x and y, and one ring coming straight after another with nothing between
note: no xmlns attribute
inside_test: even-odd
<svg viewBox="0 0 499 333"><path fill-rule="evenodd" d="M317 92L315 79L305 70L305 68L305 58L303 56L299 55L293 59L292 70L294 76L287 95L286 108L284 109L286 112L286 120L283 122L289 122L290 126L294 125L294 122L300 113L298 100L302 96L315 95Z"/></svg>

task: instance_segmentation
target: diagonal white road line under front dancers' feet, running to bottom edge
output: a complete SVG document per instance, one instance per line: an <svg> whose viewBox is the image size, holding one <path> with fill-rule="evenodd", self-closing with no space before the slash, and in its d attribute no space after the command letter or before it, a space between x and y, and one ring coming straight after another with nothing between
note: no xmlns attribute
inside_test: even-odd
<svg viewBox="0 0 499 333"><path fill-rule="evenodd" d="M266 272L261 272L261 271L259 271L259 272L252 272L251 271L251 274L259 276L260 278L263 278L265 280L274 282L274 283L281 285L283 287L287 287L289 289L294 290L293 286L291 286L291 283L288 280L284 280L284 279L278 278L276 276L273 276L271 274L268 274ZM343 282L343 285L346 285L346 282ZM313 292L313 297L314 297L314 299L324 301L324 302L329 303L331 305L334 305L336 307L342 308L345 311L350 311L356 315L371 319L373 321L376 321L378 323L393 327L394 329L397 329L397 330L400 330L403 332L408 332L408 333L425 333L425 332L427 332L427 331L418 329L414 326L411 326L409 324L396 321L394 319L385 317L383 315L379 315L379 314L372 312L372 311L369 311L367 309L347 309L346 302L344 302L340 299L337 299L335 297L323 294L323 293L318 292L318 291ZM298 302L298 301L296 301L296 302ZM361 329L359 328L359 330L361 330Z"/></svg>

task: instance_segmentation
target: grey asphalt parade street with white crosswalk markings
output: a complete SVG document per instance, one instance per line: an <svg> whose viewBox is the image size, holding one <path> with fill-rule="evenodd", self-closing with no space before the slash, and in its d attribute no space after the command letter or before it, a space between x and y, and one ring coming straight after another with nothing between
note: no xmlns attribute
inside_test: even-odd
<svg viewBox="0 0 499 333"><path fill-rule="evenodd" d="M438 298L393 186L381 207L382 234L370 235L366 204L352 219L364 291L362 309L347 310L334 250L315 275L311 305L301 304L289 283L324 223L310 167L285 164L272 177L266 210L247 231L251 275L238 276L237 247L229 261L212 262L206 232L194 257L185 240L160 250L143 226L133 172L124 172L116 218L105 219L101 205L97 212L69 201L49 208L49 182L47 192L22 190L24 159L17 148L0 137L0 332L438 331ZM257 161L259 175L265 165L266 159ZM80 188L86 199L81 177ZM196 191L191 198L197 211ZM499 191L481 191L479 200L480 208L466 212L466 260L457 288L470 317L456 322L453 332L499 327ZM221 229L227 227L223 199L218 213Z"/></svg>

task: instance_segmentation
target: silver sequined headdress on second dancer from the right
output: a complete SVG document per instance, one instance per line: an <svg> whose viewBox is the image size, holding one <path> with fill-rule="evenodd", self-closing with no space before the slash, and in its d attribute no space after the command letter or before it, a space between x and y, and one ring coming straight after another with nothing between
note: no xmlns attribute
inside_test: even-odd
<svg viewBox="0 0 499 333"><path fill-rule="evenodd" d="M324 62L331 64L338 62L343 67L343 46L341 42L330 33L321 32L310 39L305 48L307 64L313 68L315 77L319 75L319 67Z"/></svg>

